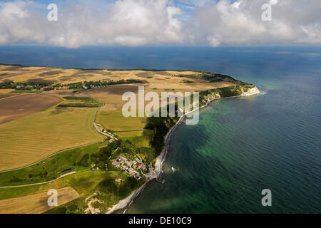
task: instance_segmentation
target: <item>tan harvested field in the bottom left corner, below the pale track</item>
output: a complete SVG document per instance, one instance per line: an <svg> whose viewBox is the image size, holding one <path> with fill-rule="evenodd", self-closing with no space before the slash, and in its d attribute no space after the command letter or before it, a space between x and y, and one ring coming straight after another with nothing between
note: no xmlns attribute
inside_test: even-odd
<svg viewBox="0 0 321 228"><path fill-rule="evenodd" d="M79 197L78 192L72 187L64 187L57 190L58 206L71 202ZM49 207L48 192L41 192L25 197L0 200L0 214L40 214L52 209Z"/></svg>

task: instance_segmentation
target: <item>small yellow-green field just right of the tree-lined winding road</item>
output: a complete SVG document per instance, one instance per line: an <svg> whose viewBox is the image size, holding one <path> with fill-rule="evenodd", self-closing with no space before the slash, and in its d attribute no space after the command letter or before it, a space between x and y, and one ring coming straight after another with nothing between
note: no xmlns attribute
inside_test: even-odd
<svg viewBox="0 0 321 228"><path fill-rule="evenodd" d="M123 116L121 111L101 111L98 112L96 123L100 123L107 129L111 130L141 130L146 124L147 118Z"/></svg>

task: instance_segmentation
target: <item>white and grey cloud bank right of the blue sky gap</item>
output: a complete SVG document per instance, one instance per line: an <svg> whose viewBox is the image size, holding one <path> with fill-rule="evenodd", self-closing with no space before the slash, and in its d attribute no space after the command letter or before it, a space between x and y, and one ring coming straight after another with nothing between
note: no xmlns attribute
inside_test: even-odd
<svg viewBox="0 0 321 228"><path fill-rule="evenodd" d="M267 43L321 44L321 4L319 0L270 0L272 21L262 21L261 6L266 0L210 2L195 11L195 41L210 46ZM196 28L195 28L196 26Z"/></svg>

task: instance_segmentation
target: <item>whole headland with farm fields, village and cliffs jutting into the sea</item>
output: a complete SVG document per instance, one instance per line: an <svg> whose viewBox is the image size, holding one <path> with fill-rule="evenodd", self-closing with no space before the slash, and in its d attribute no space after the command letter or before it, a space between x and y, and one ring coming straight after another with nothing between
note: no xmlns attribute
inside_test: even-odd
<svg viewBox="0 0 321 228"><path fill-rule="evenodd" d="M0 213L111 213L159 180L185 117L124 117L122 95L138 86L198 91L200 108L259 93L203 71L0 65ZM46 202L50 189L61 192L58 207Z"/></svg>

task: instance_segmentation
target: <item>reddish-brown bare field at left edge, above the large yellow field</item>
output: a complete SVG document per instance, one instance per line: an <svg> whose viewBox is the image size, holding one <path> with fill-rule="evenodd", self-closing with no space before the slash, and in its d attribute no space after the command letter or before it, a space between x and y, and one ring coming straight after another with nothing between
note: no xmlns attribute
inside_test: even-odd
<svg viewBox="0 0 321 228"><path fill-rule="evenodd" d="M0 97L0 125L26 115L38 113L60 101L52 96L36 94L11 95L2 99Z"/></svg>

